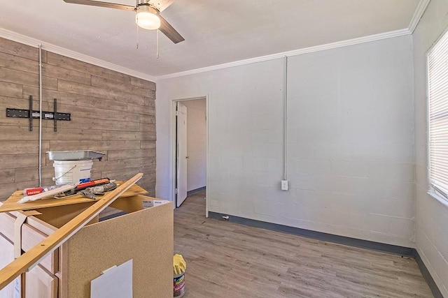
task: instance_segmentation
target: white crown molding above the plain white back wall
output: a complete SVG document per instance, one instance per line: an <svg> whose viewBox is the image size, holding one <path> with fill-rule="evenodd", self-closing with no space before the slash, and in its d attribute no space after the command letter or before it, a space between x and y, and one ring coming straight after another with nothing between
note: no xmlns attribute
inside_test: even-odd
<svg viewBox="0 0 448 298"><path fill-rule="evenodd" d="M428 0L423 0L423 1L428 1ZM194 70L187 70L187 71L183 71L181 73L171 73L169 75L160 75L160 76L156 77L156 81L172 79L174 77L183 77L185 75L193 75L196 73L205 73L205 72L211 71L211 70L219 70L219 69L223 69L223 68L230 68L230 67L241 66L241 65L245 65L245 64L253 64L253 63L262 62L262 61L269 61L269 60L279 59L279 58L283 58L283 57L291 57L291 56L296 56L296 55L301 55L301 54L309 54L312 52L319 52L319 51L324 51L324 50L335 49L337 47L358 45L360 43L370 43L371 41L381 40L381 39L386 39L386 38L393 38L393 37L398 37L398 36L405 36L405 35L409 35L410 33L411 32L409 31L409 29L400 29L400 30L396 30L396 31L390 31L390 32L375 34L375 35L371 35L371 36L363 36L360 38L342 40L342 41L338 41L336 43L327 43L325 45L316 45L314 47L305 47L305 48L299 49L299 50L281 52L281 53L276 53L276 54L271 54L271 55L266 55L266 56L261 56L261 57L255 57L255 58L251 58L251 59L244 59L244 60L234 61L234 62L230 62L230 63L226 63L226 64L218 64L215 66L197 68Z"/></svg>

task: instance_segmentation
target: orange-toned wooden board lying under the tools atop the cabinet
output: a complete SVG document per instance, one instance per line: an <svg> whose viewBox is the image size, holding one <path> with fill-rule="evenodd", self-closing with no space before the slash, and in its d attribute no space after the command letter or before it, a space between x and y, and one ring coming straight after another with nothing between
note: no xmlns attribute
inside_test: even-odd
<svg viewBox="0 0 448 298"><path fill-rule="evenodd" d="M123 181L117 181L117 184L123 184ZM148 193L144 190L144 188L141 188L137 184L134 184L131 186L130 189L125 191L121 197L129 197L132 195L143 195ZM82 195L73 195L69 198L64 199L45 199L45 200L37 200L33 202L26 202L26 203L18 203L18 201L23 198L23 192L22 191L16 191L11 195L8 200L4 201L3 204L0 206L0 212L6 212L6 211L16 211L16 210L34 210L34 209L41 209L41 208L49 208L49 207L57 207L57 206L65 206L70 204L80 204L85 202L94 202L92 199L85 198ZM100 197L98 197L100 198Z"/></svg>

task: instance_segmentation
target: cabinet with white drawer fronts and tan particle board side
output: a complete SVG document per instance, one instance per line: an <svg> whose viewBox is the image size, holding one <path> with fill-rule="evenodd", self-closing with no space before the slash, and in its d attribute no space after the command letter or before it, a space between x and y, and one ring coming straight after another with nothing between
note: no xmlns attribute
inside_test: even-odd
<svg viewBox="0 0 448 298"><path fill-rule="evenodd" d="M148 209L143 195L118 198L111 207L127 214L91 221L39 265L25 274L25 298L88 298L90 281L102 271L133 260L134 298L173 297L172 202ZM1 202L0 202L1 204ZM94 204L38 209L21 226L21 246L28 251L47 235ZM0 267L14 260L14 222L18 212L0 213ZM12 298L13 285L0 298Z"/></svg>

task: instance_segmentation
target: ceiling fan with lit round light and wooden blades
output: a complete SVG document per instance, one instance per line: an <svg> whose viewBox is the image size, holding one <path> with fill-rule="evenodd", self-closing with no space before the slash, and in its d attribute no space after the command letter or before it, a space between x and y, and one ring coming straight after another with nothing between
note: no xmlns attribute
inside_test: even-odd
<svg viewBox="0 0 448 298"><path fill-rule="evenodd" d="M137 13L135 16L135 22L137 22L139 27L148 30L159 29L165 34L165 36L167 36L167 38L172 40L173 43L180 43L185 40L185 38L183 38L181 34L179 34L179 32L172 27L172 25L160 16L160 12L165 10L165 8L173 3L173 1L174 0L136 0L135 6L129 6L92 0L64 0L66 3L135 11Z"/></svg>

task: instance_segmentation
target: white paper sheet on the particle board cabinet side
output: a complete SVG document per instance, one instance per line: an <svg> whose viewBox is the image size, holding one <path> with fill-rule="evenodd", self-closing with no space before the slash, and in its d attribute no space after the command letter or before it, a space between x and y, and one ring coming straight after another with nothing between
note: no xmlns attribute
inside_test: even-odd
<svg viewBox="0 0 448 298"><path fill-rule="evenodd" d="M132 259L95 278L90 283L90 298L132 298Z"/></svg>

